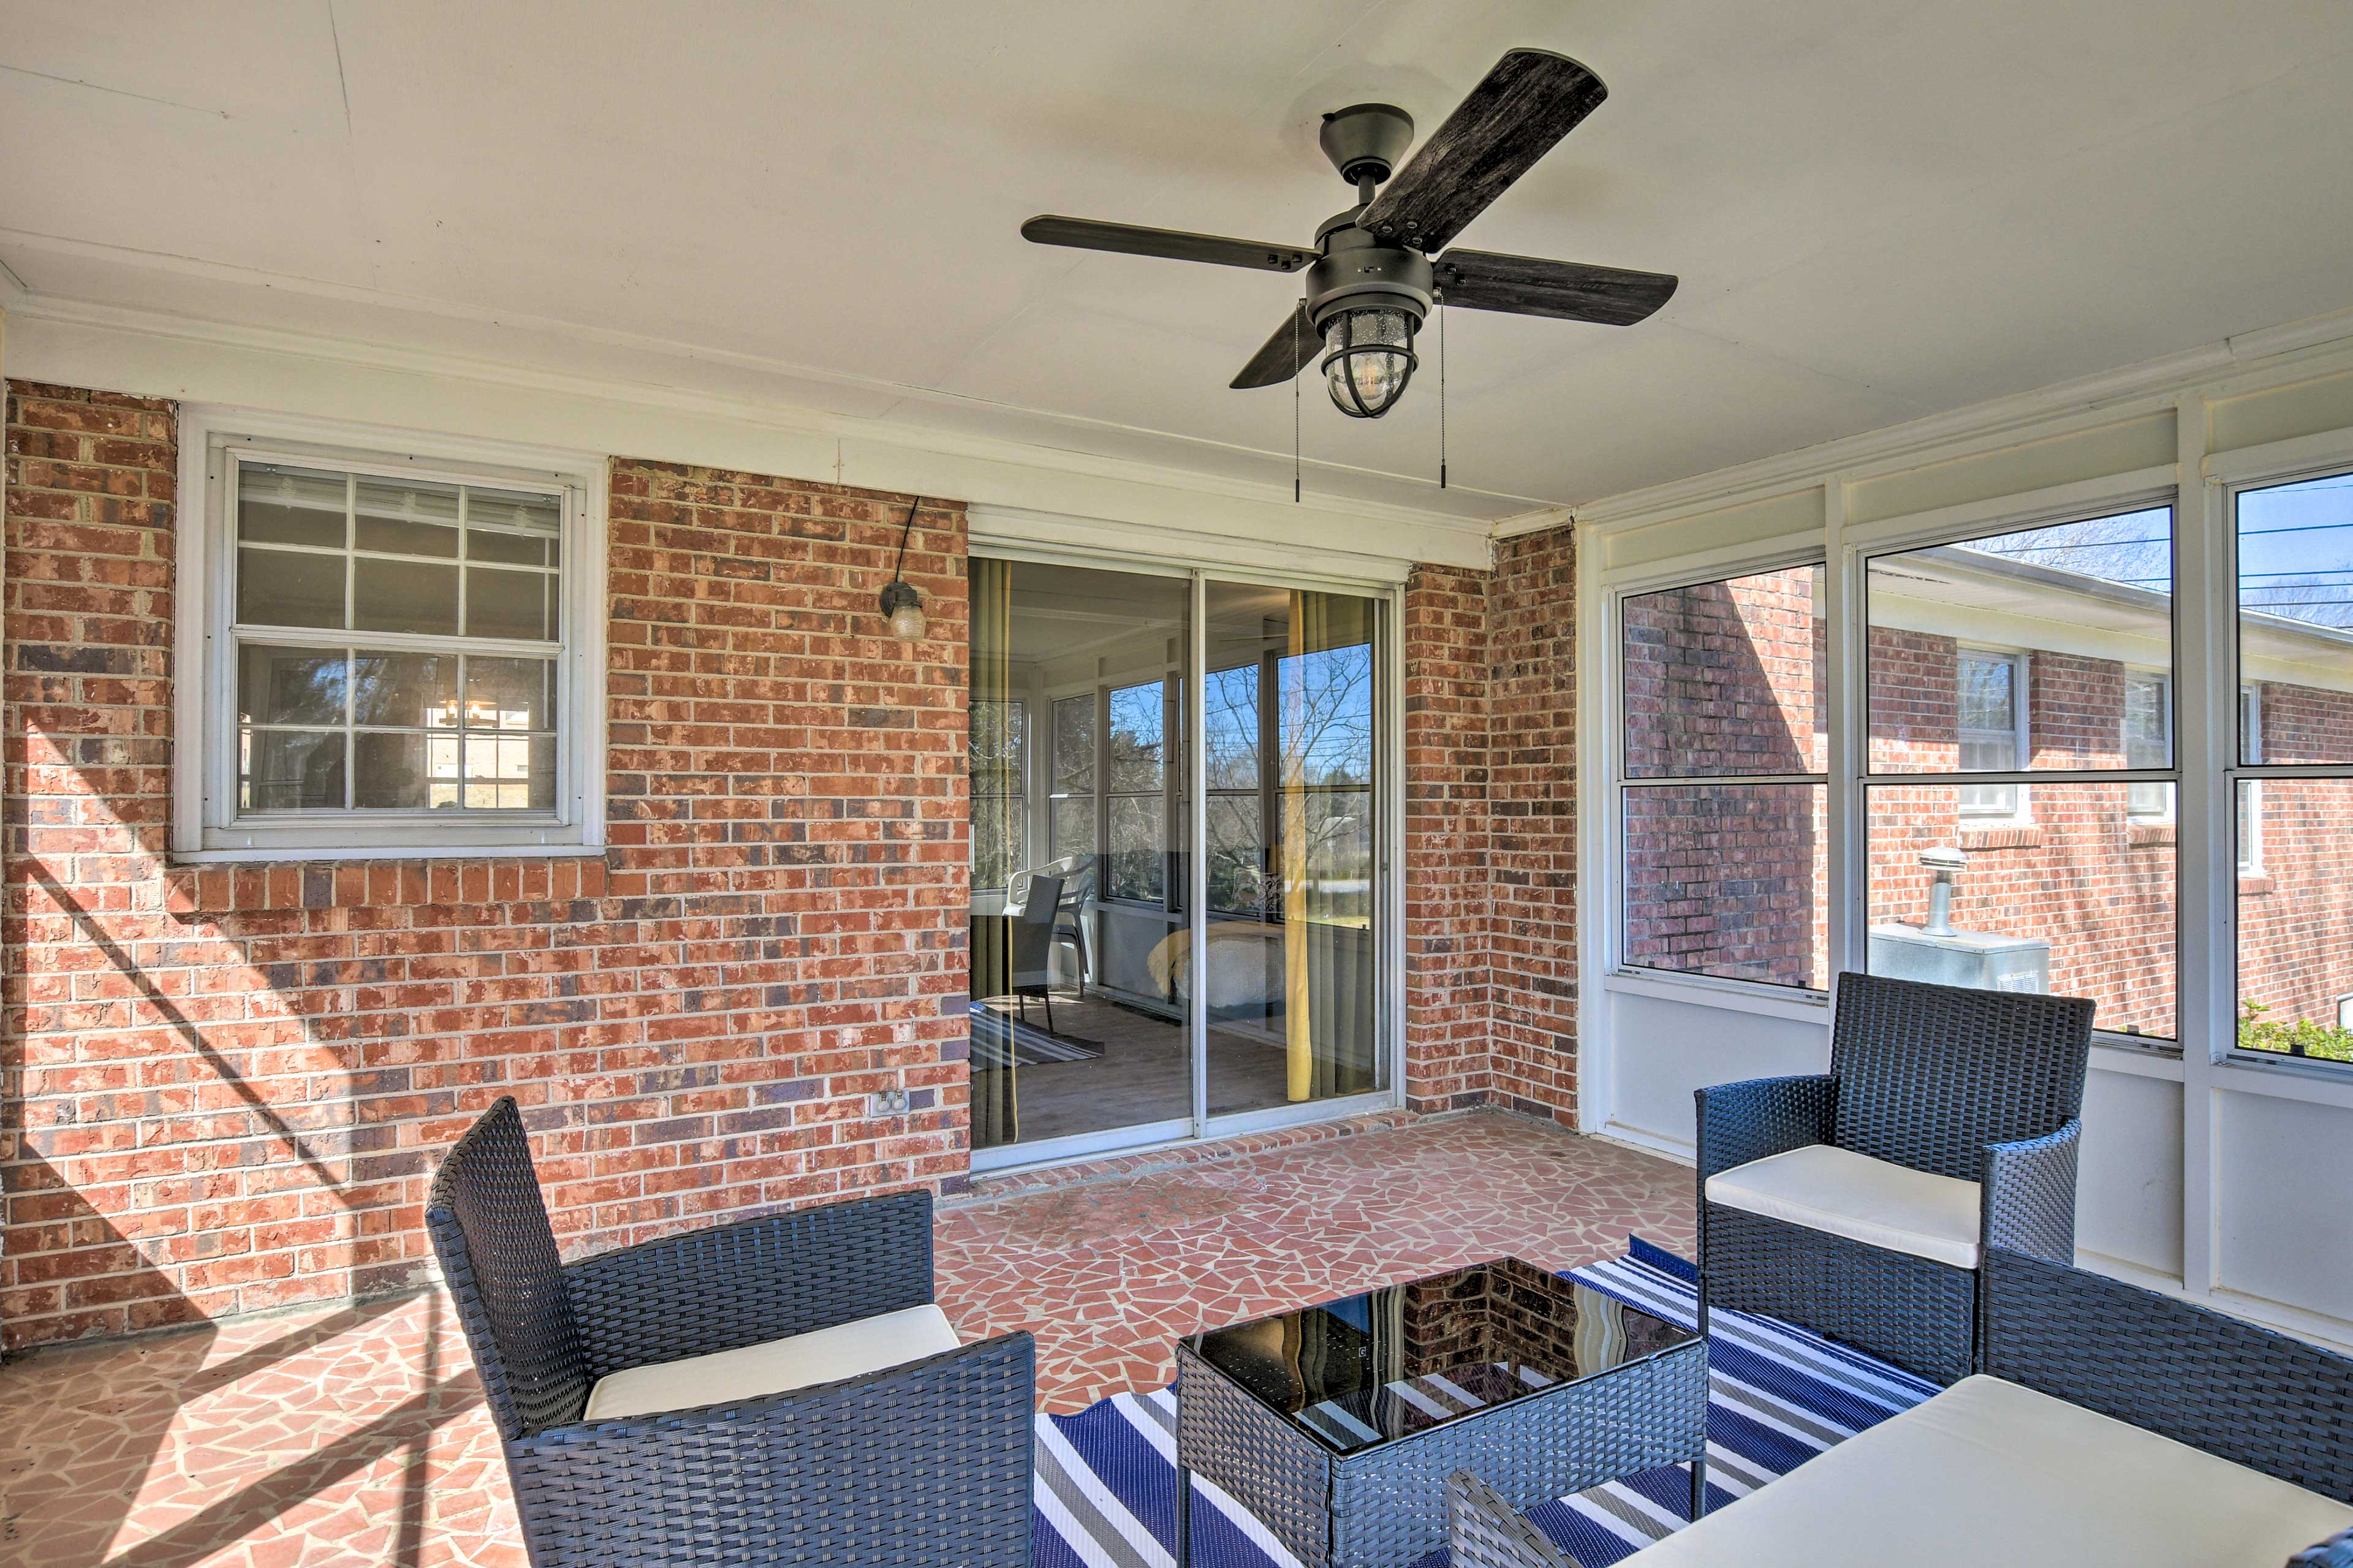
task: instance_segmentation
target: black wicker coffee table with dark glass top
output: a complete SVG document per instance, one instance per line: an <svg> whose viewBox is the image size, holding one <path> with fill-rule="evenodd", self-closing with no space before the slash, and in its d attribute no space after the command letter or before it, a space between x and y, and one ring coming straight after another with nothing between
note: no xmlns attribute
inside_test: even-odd
<svg viewBox="0 0 2353 1568"><path fill-rule="evenodd" d="M1447 1476L1515 1509L1689 1460L1706 1495L1699 1335L1515 1257L1176 1342L1176 1561L1191 1476L1311 1568L1447 1540Z"/></svg>

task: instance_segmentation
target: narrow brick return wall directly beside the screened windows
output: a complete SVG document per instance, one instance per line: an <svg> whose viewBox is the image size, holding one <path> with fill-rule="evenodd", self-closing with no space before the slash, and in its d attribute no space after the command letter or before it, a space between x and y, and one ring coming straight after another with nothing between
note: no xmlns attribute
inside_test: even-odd
<svg viewBox="0 0 2353 1568"><path fill-rule="evenodd" d="M1577 1121L1577 530L1497 546L1487 591L1494 1097Z"/></svg>

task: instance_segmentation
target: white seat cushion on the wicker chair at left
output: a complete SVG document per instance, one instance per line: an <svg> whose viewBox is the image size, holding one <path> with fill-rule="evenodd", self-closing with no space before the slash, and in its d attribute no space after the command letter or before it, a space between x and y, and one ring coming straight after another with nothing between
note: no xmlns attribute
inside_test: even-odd
<svg viewBox="0 0 2353 1568"><path fill-rule="evenodd" d="M598 1377L595 1387L588 1389L586 1420L612 1422L628 1415L694 1410L729 1398L784 1394L812 1382L838 1382L922 1361L958 1344L955 1330L948 1328L948 1314L939 1307L885 1311L765 1344L659 1366L633 1366L612 1377Z"/></svg>

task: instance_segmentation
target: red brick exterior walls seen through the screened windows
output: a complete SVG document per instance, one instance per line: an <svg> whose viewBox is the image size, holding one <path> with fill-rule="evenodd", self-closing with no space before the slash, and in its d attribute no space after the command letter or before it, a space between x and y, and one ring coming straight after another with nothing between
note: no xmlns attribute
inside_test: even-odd
<svg viewBox="0 0 2353 1568"><path fill-rule="evenodd" d="M1922 570L1911 565L1918 556L1951 551L1906 558L1913 572ZM2000 572L1991 556L1953 570L1962 565ZM1626 600L1628 777L1824 768L1817 572L1791 567ZM2042 614L2066 622L2064 589L2049 593ZM2097 998L2101 1026L2174 1036L2169 796L2137 796L2122 782L2028 784L2009 796L2014 810L1984 793L1965 810L1965 786L1951 775L1962 746L1962 659L1974 640L1908 624L1913 603L1925 600L1880 593L1873 603L1871 758L1880 772L1946 777L1868 789L1871 923L1922 925L1929 876L1920 852L1960 848L1969 859L1955 881L1958 928L2040 937L2049 942L2052 989ZM2127 765L2127 706L2141 704L2129 718L2146 725L2169 697L2153 685L2167 662L2160 638L2144 659L2024 640L1977 652L2014 659L2021 676L2024 760L2014 765ZM2273 619L2259 629L2261 647L2249 643L2245 713L2259 760L2344 760L2353 756L2353 690L2266 678L2299 638L2332 633ZM2139 695L2134 683L2144 683ZM1628 958L1821 986L1821 805L1819 786L1628 791ZM2240 996L2266 1003L2273 1017L2334 1024L2339 998L2353 996L2353 949L2344 942L2353 925L2348 808L2348 784L2271 779L2242 815L2252 852L2238 902Z"/></svg>

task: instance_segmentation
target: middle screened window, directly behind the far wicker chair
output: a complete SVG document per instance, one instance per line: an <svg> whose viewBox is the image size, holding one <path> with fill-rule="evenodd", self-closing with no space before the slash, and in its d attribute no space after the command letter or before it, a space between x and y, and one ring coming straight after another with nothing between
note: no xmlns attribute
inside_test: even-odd
<svg viewBox="0 0 2353 1568"><path fill-rule="evenodd" d="M2179 1034L2172 584L2169 506L1864 563L1864 968Z"/></svg>

